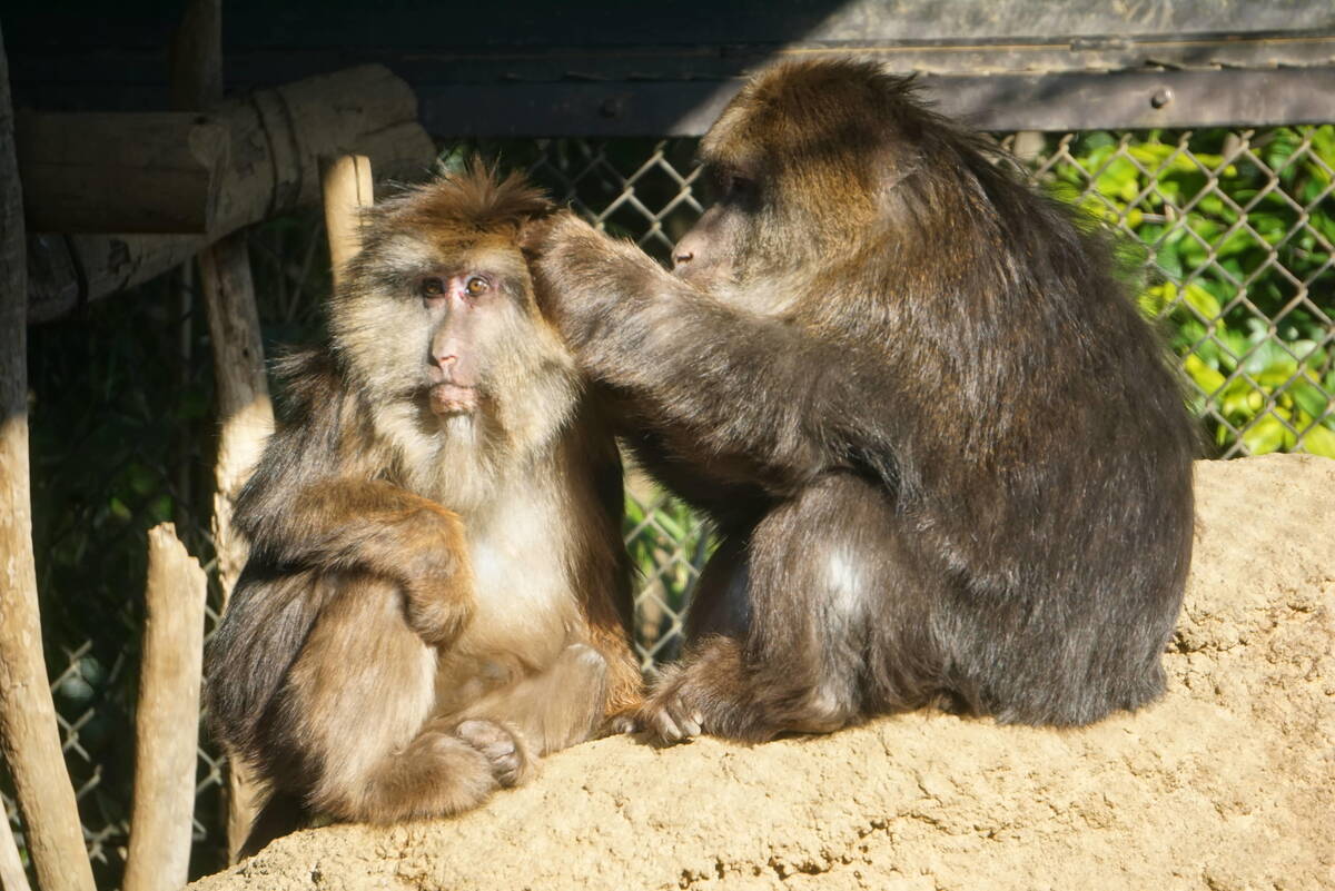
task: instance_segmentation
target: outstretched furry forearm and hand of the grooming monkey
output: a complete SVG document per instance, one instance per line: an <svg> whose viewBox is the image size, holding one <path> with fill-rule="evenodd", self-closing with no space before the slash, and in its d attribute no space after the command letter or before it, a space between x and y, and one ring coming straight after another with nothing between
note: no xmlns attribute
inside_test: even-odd
<svg viewBox="0 0 1335 891"><path fill-rule="evenodd" d="M689 435L705 454L758 462L786 487L832 466L893 475L890 431L854 429L884 373L778 319L726 307L634 245L570 215L531 245L543 309L597 380L641 420Z"/></svg>

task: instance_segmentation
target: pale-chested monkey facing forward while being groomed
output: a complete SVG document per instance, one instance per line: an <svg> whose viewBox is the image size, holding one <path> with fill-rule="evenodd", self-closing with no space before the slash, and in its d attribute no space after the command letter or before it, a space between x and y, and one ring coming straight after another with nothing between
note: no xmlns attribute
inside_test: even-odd
<svg viewBox="0 0 1335 891"><path fill-rule="evenodd" d="M208 647L212 732L302 820L473 808L639 702L615 440L518 247L550 201L479 163L384 200L283 361Z"/></svg>

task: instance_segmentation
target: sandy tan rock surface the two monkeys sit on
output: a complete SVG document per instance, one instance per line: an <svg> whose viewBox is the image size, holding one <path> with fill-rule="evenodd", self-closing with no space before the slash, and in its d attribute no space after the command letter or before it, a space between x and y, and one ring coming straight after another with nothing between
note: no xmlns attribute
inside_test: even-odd
<svg viewBox="0 0 1335 891"><path fill-rule="evenodd" d="M1169 690L1139 714L607 739L462 818L299 832L192 887L1335 888L1335 462L1204 462L1196 499Z"/></svg>

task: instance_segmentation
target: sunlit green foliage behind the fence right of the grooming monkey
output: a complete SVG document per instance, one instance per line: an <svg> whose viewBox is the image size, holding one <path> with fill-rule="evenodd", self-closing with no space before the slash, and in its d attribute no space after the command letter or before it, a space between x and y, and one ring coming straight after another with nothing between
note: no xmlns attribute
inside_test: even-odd
<svg viewBox="0 0 1335 891"><path fill-rule="evenodd" d="M1335 458L1335 127L1083 133L1055 191L1136 236L1195 408L1226 455Z"/></svg>

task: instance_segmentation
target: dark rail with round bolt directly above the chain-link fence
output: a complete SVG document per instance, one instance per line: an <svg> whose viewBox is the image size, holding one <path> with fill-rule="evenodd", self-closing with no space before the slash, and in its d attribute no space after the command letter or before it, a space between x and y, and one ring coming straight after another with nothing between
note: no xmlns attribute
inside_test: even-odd
<svg viewBox="0 0 1335 891"><path fill-rule="evenodd" d="M418 95L422 123L442 139L450 135L700 136L742 83L732 79L426 85ZM922 95L943 112L989 131L1335 121L1335 65L1272 71L933 75L924 76L921 83ZM1171 101L1156 104L1161 95L1171 95Z"/></svg>

